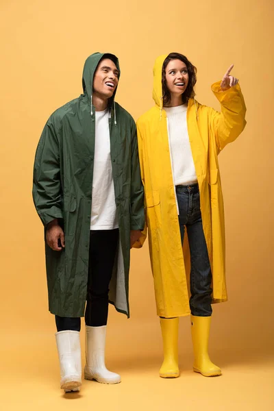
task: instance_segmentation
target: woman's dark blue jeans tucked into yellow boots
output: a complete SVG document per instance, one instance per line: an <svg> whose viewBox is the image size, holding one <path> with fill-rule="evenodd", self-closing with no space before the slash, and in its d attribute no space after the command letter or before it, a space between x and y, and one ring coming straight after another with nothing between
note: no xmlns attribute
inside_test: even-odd
<svg viewBox="0 0 274 411"><path fill-rule="evenodd" d="M179 228L182 244L186 227L190 247L191 314L195 316L210 316L212 314L212 273L201 222L199 186L198 184L176 186L176 194L179 206Z"/></svg>

